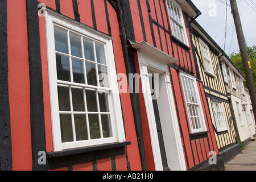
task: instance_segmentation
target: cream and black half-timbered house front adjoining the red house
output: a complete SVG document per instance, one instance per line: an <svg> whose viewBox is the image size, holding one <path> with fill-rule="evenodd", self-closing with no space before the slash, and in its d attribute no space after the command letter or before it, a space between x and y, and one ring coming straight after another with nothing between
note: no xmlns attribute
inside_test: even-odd
<svg viewBox="0 0 256 182"><path fill-rule="evenodd" d="M219 151L222 151L237 142L232 111L219 63L221 49L197 22L192 24L192 28L193 46L199 65L199 79L204 84L214 135Z"/></svg>

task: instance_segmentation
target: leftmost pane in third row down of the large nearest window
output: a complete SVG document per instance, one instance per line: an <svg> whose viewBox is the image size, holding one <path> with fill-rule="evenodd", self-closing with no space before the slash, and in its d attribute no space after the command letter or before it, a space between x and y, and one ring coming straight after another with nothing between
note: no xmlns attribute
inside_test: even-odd
<svg viewBox="0 0 256 182"><path fill-rule="evenodd" d="M58 86L59 110L71 111L69 100L69 88Z"/></svg>

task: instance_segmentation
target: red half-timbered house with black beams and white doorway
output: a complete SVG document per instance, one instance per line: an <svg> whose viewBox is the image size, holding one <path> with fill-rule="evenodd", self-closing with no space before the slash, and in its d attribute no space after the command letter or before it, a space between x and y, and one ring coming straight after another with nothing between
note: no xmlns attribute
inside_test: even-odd
<svg viewBox="0 0 256 182"><path fill-rule="evenodd" d="M0 11L1 170L222 168L208 163L218 147L192 1L5 0Z"/></svg>

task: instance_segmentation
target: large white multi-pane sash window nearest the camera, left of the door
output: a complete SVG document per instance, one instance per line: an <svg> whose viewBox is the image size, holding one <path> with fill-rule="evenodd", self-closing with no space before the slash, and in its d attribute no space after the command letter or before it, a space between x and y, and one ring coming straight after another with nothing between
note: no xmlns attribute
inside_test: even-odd
<svg viewBox="0 0 256 182"><path fill-rule="evenodd" d="M52 15L47 27L55 151L125 140L119 93L109 83L112 40Z"/></svg>

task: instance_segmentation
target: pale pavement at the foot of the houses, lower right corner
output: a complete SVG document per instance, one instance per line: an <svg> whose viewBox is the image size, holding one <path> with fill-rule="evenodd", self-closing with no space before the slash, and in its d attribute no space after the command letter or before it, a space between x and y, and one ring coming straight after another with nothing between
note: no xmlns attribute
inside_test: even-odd
<svg viewBox="0 0 256 182"><path fill-rule="evenodd" d="M256 171L256 141L251 141L238 154L225 165L225 171Z"/></svg>

